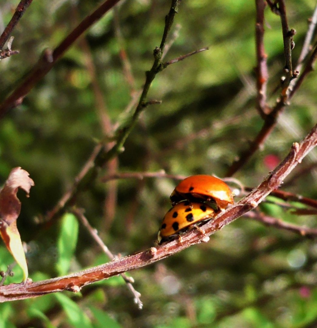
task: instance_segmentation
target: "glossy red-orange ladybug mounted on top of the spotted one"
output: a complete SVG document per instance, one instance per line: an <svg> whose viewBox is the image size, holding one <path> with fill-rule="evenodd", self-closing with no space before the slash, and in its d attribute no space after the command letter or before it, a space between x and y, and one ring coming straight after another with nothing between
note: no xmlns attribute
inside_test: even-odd
<svg viewBox="0 0 317 328"><path fill-rule="evenodd" d="M170 195L173 206L184 199L193 202L214 202L219 209L225 209L228 204L233 204L228 185L214 176L205 174L188 176Z"/></svg>

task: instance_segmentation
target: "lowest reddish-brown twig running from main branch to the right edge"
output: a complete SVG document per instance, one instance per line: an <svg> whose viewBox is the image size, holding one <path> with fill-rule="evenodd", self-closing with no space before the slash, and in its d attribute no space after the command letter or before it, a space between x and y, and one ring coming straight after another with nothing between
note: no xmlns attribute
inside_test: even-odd
<svg viewBox="0 0 317 328"><path fill-rule="evenodd" d="M268 226L272 226L278 229L283 229L287 231L294 232L301 236L305 237L317 237L317 229L306 228L303 226L298 226L296 224L288 223L282 220L279 220L275 217L263 215L261 213L257 213L255 211L250 211L244 215L245 217L249 217L251 219L257 220L261 223L264 223Z"/></svg>

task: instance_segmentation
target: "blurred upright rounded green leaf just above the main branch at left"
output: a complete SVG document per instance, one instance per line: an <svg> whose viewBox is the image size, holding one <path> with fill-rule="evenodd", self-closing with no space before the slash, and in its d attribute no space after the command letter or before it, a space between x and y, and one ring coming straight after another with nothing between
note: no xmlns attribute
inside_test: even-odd
<svg viewBox="0 0 317 328"><path fill-rule="evenodd" d="M68 273L70 261L74 255L78 239L78 221L75 215L67 213L62 218L62 228L57 241L58 261L56 269L58 275Z"/></svg>

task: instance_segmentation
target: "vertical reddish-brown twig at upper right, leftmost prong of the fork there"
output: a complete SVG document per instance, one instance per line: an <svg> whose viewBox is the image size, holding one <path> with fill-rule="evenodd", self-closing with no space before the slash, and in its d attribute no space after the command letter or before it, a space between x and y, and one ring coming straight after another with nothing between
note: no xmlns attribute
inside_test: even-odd
<svg viewBox="0 0 317 328"><path fill-rule="evenodd" d="M264 49L264 9L266 3L256 0L256 22L255 22L255 46L256 46L256 86L257 86L257 109L262 118L269 113L267 108L267 54Z"/></svg>

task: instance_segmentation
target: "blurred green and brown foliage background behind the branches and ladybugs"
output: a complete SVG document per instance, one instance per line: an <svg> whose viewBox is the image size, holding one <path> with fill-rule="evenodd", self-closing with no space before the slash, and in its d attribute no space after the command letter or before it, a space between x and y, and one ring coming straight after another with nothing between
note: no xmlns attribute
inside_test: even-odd
<svg viewBox="0 0 317 328"><path fill-rule="evenodd" d="M0 29L19 1L0 2ZM18 55L0 62L0 99L23 80L42 52L54 49L99 1L33 1L13 31ZM287 1L299 56L315 0ZM17 221L28 243L33 280L57 277L105 263L108 258L85 228L69 216L47 214L72 186L100 140L113 137L135 109L160 45L170 1L121 1L78 40L0 122L0 178L14 167L30 173ZM274 105L284 67L279 16L265 11L268 103ZM113 172L214 174L225 177L248 148L263 120L256 110L255 3L246 0L182 1L165 60L209 47L168 66L154 79L148 100L162 100L142 113L124 152L100 170L75 200L114 253L132 254L154 245L177 181L126 178L102 182ZM316 73L312 72L279 117L265 147L234 177L255 187L300 141L317 118ZM111 127L109 129L109 122ZM316 198L317 153L312 151L286 179L283 190ZM236 185L231 185L236 187ZM238 201L236 197L235 201ZM295 215L267 197L263 213L315 227L316 215ZM278 203L277 203L278 202ZM282 204L282 205L281 205ZM301 206L300 204L287 203ZM69 223L70 222L70 223ZM66 227L66 228L65 228ZM63 258L71 229L75 251ZM78 231L78 233L77 233ZM0 268L13 259L3 243ZM3 327L316 327L317 243L291 232L239 218L195 245L129 273L144 303L139 310L122 278L85 287L80 295L52 294L0 304ZM66 264L65 262L66 261ZM62 264L65 265L62 265ZM7 282L20 282L14 268Z"/></svg>

